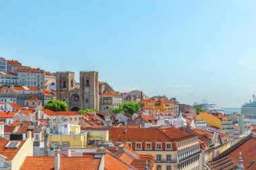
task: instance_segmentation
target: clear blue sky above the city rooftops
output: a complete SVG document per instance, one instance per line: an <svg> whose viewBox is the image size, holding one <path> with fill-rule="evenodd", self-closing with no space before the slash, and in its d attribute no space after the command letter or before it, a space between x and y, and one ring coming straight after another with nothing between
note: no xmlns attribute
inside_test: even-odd
<svg viewBox="0 0 256 170"><path fill-rule="evenodd" d="M99 71L122 92L240 107L255 93L255 47L255 0L0 0L0 56Z"/></svg>

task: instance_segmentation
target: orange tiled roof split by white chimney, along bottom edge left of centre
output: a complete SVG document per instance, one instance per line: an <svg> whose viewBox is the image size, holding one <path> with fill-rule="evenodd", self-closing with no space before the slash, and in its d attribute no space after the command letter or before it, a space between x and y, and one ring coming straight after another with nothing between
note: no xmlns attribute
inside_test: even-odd
<svg viewBox="0 0 256 170"><path fill-rule="evenodd" d="M61 157L59 170L88 169L98 170L101 159L94 159L94 155L86 157ZM20 170L52 170L55 169L55 157L26 157Z"/></svg>

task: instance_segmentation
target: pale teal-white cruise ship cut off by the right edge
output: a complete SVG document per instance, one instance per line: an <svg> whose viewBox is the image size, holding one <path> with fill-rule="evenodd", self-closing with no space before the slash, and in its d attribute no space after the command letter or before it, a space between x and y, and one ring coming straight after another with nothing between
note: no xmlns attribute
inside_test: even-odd
<svg viewBox="0 0 256 170"><path fill-rule="evenodd" d="M253 101L242 105L241 114L248 116L251 124L256 124L256 97L253 95Z"/></svg>

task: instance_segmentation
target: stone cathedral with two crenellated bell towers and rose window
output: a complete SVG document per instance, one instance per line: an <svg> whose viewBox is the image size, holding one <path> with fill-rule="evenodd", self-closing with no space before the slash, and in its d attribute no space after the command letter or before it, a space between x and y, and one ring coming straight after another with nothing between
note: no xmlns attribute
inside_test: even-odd
<svg viewBox="0 0 256 170"><path fill-rule="evenodd" d="M57 99L67 102L71 111L99 110L98 72L80 71L79 86L75 85L75 73L57 72Z"/></svg>

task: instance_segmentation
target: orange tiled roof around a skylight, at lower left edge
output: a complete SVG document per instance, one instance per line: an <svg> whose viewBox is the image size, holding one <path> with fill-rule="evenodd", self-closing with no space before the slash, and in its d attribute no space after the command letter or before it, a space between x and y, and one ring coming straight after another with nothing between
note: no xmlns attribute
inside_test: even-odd
<svg viewBox="0 0 256 170"><path fill-rule="evenodd" d="M18 153L18 151L20 151L20 148L22 148L24 142L26 142L26 140L18 140L20 141L20 145L18 146L18 148L5 148L5 146L9 141L10 140L0 141L0 155L7 157L5 161L11 161L15 157L15 155Z"/></svg>

